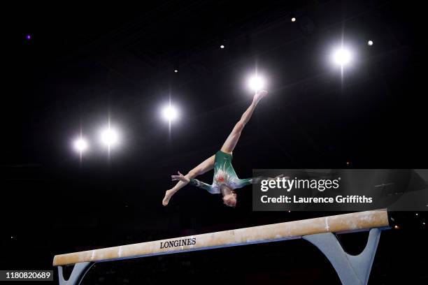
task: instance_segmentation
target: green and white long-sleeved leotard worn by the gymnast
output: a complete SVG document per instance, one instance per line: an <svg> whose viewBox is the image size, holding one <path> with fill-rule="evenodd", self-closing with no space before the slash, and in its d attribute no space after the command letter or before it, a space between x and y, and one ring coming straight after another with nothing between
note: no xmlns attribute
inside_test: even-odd
<svg viewBox="0 0 428 285"><path fill-rule="evenodd" d="M213 184L206 184L197 179L190 179L190 184L199 188L205 189L212 194L220 194L220 186L227 185L231 189L242 188L249 184L255 184L259 181L259 177L239 179L236 175L234 167L231 165L233 156L219 150L215 154L214 163L214 179Z"/></svg>

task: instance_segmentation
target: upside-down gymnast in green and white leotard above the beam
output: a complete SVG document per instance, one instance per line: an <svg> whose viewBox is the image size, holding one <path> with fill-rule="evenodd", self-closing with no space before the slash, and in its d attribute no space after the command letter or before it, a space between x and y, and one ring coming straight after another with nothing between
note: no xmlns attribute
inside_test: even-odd
<svg viewBox="0 0 428 285"><path fill-rule="evenodd" d="M172 189L169 189L165 192L164 200L162 200L162 205L166 206L169 203L169 199L181 188L185 187L187 184L194 185L196 187L205 189L212 194L222 194L223 203L229 207L236 206L236 192L234 189L242 188L248 184L257 183L261 177L239 179L236 175L233 166L231 165L232 161L232 152L236 146L236 143L241 136L241 131L243 130L245 124L248 123L254 112L257 104L259 103L268 92L266 90L261 90L256 92L250 107L243 113L241 119L234 126L234 129L231 131L227 137L226 142L224 142L220 151L215 155L209 157L204 162L199 164L199 166L193 168L186 175L183 175L178 171L178 175L171 175L173 181L178 181L176 186ZM206 184L201 182L195 177L198 175L204 174L207 171L214 168L214 179L213 184ZM280 175L282 176L282 175ZM273 178L271 178L273 179Z"/></svg>

